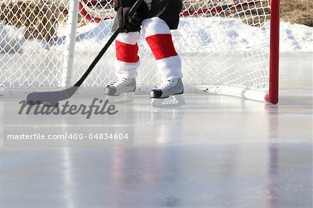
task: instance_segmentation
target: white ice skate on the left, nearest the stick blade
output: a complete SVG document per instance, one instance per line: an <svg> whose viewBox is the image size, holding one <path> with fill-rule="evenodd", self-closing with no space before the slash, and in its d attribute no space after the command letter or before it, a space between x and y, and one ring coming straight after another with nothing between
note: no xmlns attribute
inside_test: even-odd
<svg viewBox="0 0 313 208"><path fill-rule="evenodd" d="M134 91L136 90L136 79L116 78L106 88L104 94L110 102L132 102L134 101Z"/></svg>

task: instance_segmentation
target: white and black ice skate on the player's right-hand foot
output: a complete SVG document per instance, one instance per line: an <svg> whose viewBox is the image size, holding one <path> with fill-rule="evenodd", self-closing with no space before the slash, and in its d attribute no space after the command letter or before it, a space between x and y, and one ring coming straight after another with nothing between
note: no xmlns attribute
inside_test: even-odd
<svg viewBox="0 0 313 208"><path fill-rule="evenodd" d="M182 79L167 80L150 92L151 104L157 108L183 106L185 104Z"/></svg>

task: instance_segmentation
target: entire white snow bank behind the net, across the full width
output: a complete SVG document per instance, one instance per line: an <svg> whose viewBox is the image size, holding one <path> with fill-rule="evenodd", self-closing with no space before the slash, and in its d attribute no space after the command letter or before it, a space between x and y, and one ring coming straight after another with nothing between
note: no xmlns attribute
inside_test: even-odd
<svg viewBox="0 0 313 208"><path fill-rule="evenodd" d="M77 49L98 52L111 35L113 20L100 24L88 24L78 29ZM313 28L299 24L281 22L280 51L313 51ZM23 29L0 24L0 53L12 51L44 49L64 49L65 34L58 40L42 44L42 41L24 40ZM179 30L172 32L175 45L184 52L225 52L225 51L268 51L269 24L262 27L248 26L234 18L182 18ZM143 41L140 46L147 49ZM49 45L49 47L47 47ZM31 46L31 47L30 47ZM96 46L96 47L88 47ZM88 47L88 49L86 49ZM38 49L38 48L37 48ZM112 49L111 49L112 50Z"/></svg>

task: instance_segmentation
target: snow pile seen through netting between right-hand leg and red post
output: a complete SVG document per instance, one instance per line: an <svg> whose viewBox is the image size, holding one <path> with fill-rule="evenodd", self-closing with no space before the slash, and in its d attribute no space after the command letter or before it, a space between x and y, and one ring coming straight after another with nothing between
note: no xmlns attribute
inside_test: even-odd
<svg viewBox="0 0 313 208"><path fill-rule="evenodd" d="M267 28L267 26L266 26ZM185 18L173 33L180 53L268 50L268 29L235 18Z"/></svg>

